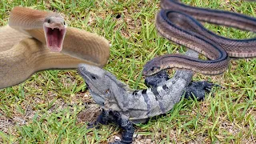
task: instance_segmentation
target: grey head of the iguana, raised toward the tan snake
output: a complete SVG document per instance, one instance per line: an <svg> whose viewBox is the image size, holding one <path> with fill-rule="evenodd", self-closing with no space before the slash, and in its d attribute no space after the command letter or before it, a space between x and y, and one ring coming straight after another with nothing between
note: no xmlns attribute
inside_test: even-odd
<svg viewBox="0 0 256 144"><path fill-rule="evenodd" d="M126 85L119 82L113 74L97 66L87 64L79 64L78 72L85 80L91 97L98 105L112 110L123 108L121 99L125 97ZM106 103L109 106L106 106Z"/></svg>

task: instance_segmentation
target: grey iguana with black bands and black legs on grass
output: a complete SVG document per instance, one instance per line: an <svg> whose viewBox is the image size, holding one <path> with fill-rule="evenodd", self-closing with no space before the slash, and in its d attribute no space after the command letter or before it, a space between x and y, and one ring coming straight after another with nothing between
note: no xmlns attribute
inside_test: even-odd
<svg viewBox="0 0 256 144"><path fill-rule="evenodd" d="M187 54L198 57L198 53L192 50ZM166 114L180 101L184 90L193 92L195 97L202 99L214 86L209 82L190 83L193 76L190 70L177 70L170 79L165 72L146 78L146 83L152 86L146 90L130 90L113 74L97 66L80 64L78 71L85 80L91 97L103 109L94 125L116 122L124 129L122 140L113 143L131 143L133 123L146 122L147 118ZM190 92L186 92L185 98L191 96Z"/></svg>

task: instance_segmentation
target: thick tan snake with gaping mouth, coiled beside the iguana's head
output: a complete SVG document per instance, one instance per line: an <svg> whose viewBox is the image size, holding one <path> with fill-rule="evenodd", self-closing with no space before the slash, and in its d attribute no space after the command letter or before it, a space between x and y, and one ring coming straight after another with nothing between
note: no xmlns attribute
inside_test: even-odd
<svg viewBox="0 0 256 144"><path fill-rule="evenodd" d="M50 26L50 31L43 24L50 23L51 15L55 14L25 7L10 12L10 26L16 30L10 26L0 28L0 88L23 82L39 70L77 68L82 62L106 65L110 44L105 38L73 27L61 31ZM52 34L48 43L44 29ZM57 35L62 32L66 33L64 41Z"/></svg>

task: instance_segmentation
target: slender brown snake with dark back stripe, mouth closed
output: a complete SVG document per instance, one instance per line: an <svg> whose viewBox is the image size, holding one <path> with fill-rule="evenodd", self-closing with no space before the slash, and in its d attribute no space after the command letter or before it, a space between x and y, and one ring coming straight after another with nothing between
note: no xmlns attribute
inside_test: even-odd
<svg viewBox="0 0 256 144"><path fill-rule="evenodd" d="M222 74L231 58L256 56L256 38L230 39L206 30L198 21L232 26L256 32L256 18L224 10L209 10L186 6L175 0L162 0L162 10L156 17L156 28L163 37L204 54L210 60L198 60L182 54L166 54L146 63L143 74L156 74L169 68L198 71L202 74ZM192 18L194 17L194 18Z"/></svg>

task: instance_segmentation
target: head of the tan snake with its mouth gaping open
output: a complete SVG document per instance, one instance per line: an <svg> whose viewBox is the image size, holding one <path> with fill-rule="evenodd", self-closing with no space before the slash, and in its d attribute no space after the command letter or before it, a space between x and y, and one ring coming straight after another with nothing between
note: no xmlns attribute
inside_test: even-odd
<svg viewBox="0 0 256 144"><path fill-rule="evenodd" d="M50 14L43 22L46 46L51 51L59 52L66 35L66 22L59 14Z"/></svg>

